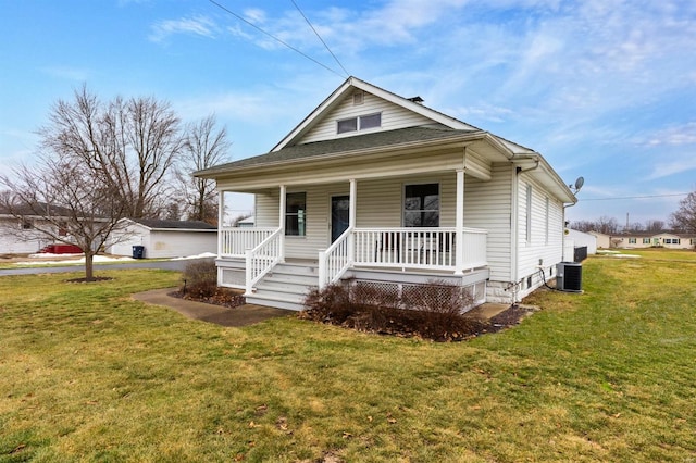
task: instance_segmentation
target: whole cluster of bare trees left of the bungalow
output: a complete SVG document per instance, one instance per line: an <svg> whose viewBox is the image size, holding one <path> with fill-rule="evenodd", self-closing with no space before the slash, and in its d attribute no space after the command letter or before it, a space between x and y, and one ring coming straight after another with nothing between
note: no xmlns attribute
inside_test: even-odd
<svg viewBox="0 0 696 463"><path fill-rule="evenodd" d="M192 172L224 162L231 142L214 115L184 124L154 97L100 100L83 86L38 129L36 158L0 174L0 208L92 258L122 218L217 222L213 180Z"/></svg>

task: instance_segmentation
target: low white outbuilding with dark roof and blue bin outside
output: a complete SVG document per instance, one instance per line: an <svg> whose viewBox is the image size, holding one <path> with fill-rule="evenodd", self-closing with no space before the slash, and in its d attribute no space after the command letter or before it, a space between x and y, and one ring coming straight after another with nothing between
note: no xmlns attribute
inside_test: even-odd
<svg viewBox="0 0 696 463"><path fill-rule="evenodd" d="M144 258L184 258L217 251L217 228L199 221L123 218L112 233L107 252L133 255L134 246L145 247Z"/></svg>

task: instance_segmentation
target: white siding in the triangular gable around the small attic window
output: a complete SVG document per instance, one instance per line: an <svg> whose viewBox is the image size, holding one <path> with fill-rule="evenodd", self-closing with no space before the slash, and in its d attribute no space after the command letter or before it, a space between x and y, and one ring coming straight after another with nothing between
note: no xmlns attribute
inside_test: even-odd
<svg viewBox="0 0 696 463"><path fill-rule="evenodd" d="M414 127L433 124L433 121L420 114L410 112L388 101L382 100L371 93L364 93L361 104L353 104L352 95L348 95L338 107L309 130L298 145L312 141L330 140L337 137L361 135L360 130L352 130L336 135L336 121L344 121L363 115L382 113L382 127L372 130L394 130L397 128Z"/></svg>

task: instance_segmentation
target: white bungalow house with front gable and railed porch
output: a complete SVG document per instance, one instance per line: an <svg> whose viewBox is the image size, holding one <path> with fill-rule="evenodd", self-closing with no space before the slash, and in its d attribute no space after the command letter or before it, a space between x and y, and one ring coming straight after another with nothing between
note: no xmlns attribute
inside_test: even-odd
<svg viewBox="0 0 696 463"><path fill-rule="evenodd" d="M568 185L534 150L421 102L349 77L270 152L195 173L216 180L220 211L227 191L256 197L253 227L220 227L219 284L299 310L340 280L446 280L512 303L552 277Z"/></svg>

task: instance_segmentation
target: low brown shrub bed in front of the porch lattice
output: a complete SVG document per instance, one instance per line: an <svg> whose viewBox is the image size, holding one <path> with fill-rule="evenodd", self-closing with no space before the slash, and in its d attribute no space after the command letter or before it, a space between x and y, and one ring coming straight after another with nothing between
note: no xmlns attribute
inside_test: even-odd
<svg viewBox="0 0 696 463"><path fill-rule="evenodd" d="M396 284L330 285L308 295L300 316L360 331L462 340L488 330L462 314L471 302L467 290L443 281L403 285L400 295Z"/></svg>

